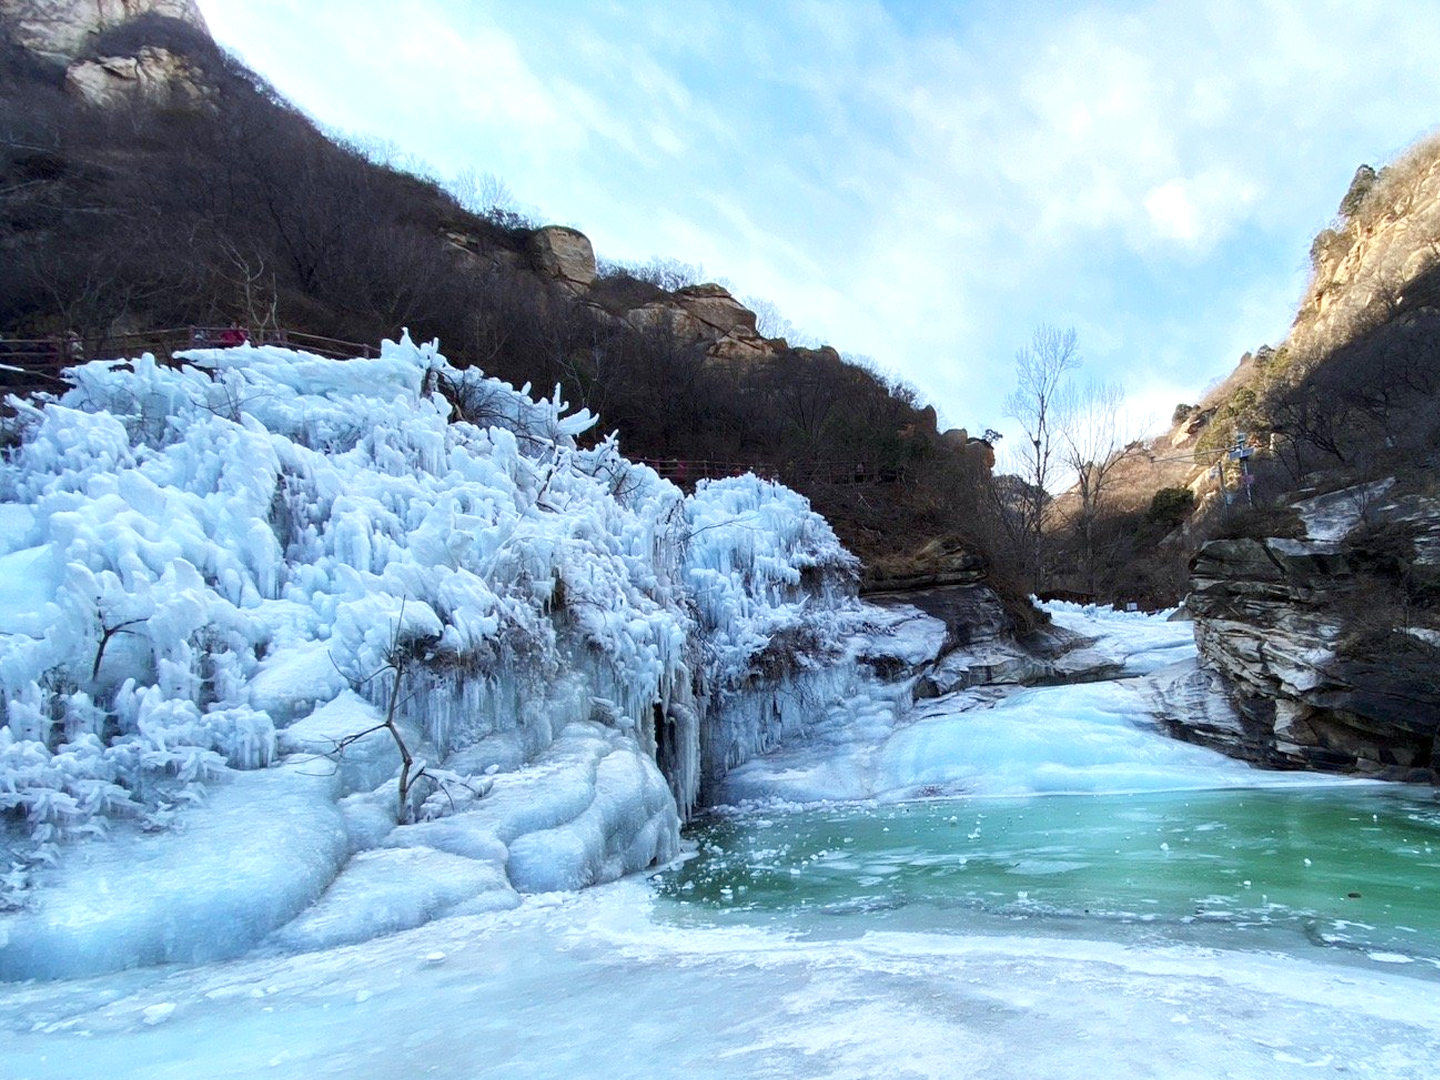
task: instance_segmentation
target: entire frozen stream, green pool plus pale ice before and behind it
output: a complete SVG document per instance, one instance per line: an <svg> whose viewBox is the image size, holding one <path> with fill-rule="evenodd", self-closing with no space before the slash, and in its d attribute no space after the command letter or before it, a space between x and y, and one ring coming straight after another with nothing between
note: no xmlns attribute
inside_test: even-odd
<svg viewBox="0 0 1440 1080"><path fill-rule="evenodd" d="M1100 629L1133 671L1184 654L1184 626ZM1434 1076L1430 792L1254 773L1128 719L1140 700L822 726L651 877L9 985L0 1076ZM816 785L857 801L801 805Z"/></svg>

